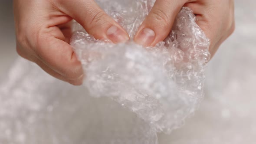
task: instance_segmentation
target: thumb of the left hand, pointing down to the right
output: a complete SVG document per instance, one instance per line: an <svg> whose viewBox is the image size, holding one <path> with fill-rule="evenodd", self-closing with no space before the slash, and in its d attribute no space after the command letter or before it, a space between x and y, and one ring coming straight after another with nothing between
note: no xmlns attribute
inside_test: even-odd
<svg viewBox="0 0 256 144"><path fill-rule="evenodd" d="M80 23L96 39L110 39L113 43L126 42L128 34L108 16L94 0L60 0L63 11Z"/></svg>

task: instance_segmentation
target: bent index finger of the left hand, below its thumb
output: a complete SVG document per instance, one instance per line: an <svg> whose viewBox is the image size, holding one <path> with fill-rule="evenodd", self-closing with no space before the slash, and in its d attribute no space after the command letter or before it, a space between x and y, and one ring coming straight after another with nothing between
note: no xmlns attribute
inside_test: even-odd
<svg viewBox="0 0 256 144"><path fill-rule="evenodd" d="M57 26L47 31L49 33L40 35L37 40L37 58L66 79L78 79L83 75L82 66L72 47L65 42L62 31Z"/></svg>

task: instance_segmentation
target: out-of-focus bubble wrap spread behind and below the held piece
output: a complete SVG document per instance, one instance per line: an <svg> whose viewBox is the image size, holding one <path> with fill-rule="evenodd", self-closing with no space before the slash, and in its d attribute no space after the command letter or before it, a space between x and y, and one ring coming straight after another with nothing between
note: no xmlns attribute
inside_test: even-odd
<svg viewBox="0 0 256 144"><path fill-rule="evenodd" d="M0 75L0 144L255 144L256 19L248 17L256 1L235 3L236 32L209 63L206 98L179 130L156 134L111 98L94 98L18 58Z"/></svg>

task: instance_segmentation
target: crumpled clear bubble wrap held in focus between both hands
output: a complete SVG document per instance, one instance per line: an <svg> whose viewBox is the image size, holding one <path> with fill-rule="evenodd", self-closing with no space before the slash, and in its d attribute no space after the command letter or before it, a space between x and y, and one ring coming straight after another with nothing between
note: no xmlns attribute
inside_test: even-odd
<svg viewBox="0 0 256 144"><path fill-rule="evenodd" d="M133 38L154 0L97 0ZM187 8L177 15L170 35L155 47L94 39L81 27L71 44L92 96L111 97L148 123L170 132L195 111L203 97L209 39Z"/></svg>

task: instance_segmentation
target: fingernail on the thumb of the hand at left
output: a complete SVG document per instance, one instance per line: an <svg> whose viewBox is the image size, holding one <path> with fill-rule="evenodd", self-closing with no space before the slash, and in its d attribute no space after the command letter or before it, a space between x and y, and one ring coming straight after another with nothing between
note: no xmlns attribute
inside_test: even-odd
<svg viewBox="0 0 256 144"><path fill-rule="evenodd" d="M117 26L111 26L106 35L113 43L125 43L129 40L129 36Z"/></svg>

